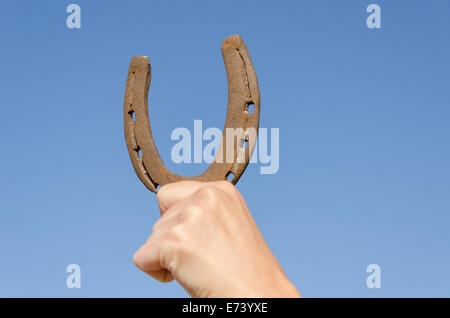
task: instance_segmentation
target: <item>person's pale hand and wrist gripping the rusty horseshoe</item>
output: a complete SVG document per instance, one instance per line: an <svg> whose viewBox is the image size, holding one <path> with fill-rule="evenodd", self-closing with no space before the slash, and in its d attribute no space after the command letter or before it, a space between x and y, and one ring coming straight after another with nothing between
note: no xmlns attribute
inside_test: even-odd
<svg viewBox="0 0 450 318"><path fill-rule="evenodd" d="M161 217L134 255L161 282L192 297L301 297L228 181L182 181L157 194Z"/></svg>

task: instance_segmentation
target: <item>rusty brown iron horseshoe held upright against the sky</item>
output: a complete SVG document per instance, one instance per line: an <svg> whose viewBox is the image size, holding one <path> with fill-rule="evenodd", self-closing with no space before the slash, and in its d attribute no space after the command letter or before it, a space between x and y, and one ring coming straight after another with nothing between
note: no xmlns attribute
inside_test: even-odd
<svg viewBox="0 0 450 318"><path fill-rule="evenodd" d="M184 177L169 171L161 160L153 140L148 115L150 60L146 56L135 56L131 59L124 101L125 139L134 170L150 191L156 193L159 186L181 180L219 181L232 177L231 183L236 184L244 173L258 135L258 80L247 47L239 35L232 35L223 40L222 55L228 79L228 107L222 140L208 169L193 177ZM251 105L254 106L253 113L249 111ZM247 133L243 136L235 133L228 136L236 130L227 128L242 128L245 132L253 129L254 138L250 138ZM244 149L243 145L246 143L248 145Z"/></svg>

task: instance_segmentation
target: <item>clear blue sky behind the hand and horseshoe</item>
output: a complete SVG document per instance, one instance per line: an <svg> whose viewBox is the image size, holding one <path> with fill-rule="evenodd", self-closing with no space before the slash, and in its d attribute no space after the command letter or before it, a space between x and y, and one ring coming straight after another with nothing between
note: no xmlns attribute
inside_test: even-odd
<svg viewBox="0 0 450 318"><path fill-rule="evenodd" d="M0 296L187 296L132 262L159 211L126 150L128 65L149 56L159 152L195 175L207 165L171 162L170 134L222 129L220 47L237 33L260 126L280 129L278 173L251 164L237 187L299 291L450 297L449 30L447 0L0 0Z"/></svg>

